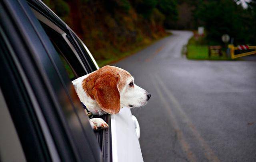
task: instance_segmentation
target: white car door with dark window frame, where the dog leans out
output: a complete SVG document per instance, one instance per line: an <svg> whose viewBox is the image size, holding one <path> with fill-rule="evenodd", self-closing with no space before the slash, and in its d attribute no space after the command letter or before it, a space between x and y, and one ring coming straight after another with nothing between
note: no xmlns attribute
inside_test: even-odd
<svg viewBox="0 0 256 162"><path fill-rule="evenodd" d="M71 44L72 46L74 46L74 49L76 50L72 54L73 59L75 57L78 57L78 59L80 58L82 60L77 60L72 63L72 58L65 56L64 52L60 52L62 53L63 57L66 58L67 63L64 62L64 66L66 67L66 64L70 65L70 68L66 68L67 71L70 71L69 69L72 69L71 71L73 71L74 75L75 73L78 73L76 72L76 70L78 70L78 68L76 67L76 64L78 64L78 62L80 64L84 64L85 67L97 66L86 46L82 43L82 41L75 35L75 33L71 29L69 29L68 27L68 30L65 29L66 24L64 24L63 21L61 21L58 17L54 16L54 14L51 14L52 12L40 2L35 0L29 0L28 2L31 4L34 14L36 15L41 25L45 29L47 35L52 40L52 43L58 44L57 41L54 42L54 37L58 37L58 34L58 41L60 41L63 38L68 38L68 41L70 41L70 43L67 44ZM42 7L40 7L40 5ZM44 10L44 8L46 9ZM51 31L49 31L49 27L52 29L50 29ZM56 35L56 33L58 34ZM59 49L61 48L59 47ZM88 69L87 72L92 72L93 70L96 70L96 68L92 70ZM75 79L72 78L72 76L70 76L70 79ZM82 75L78 74L77 77L79 76ZM130 109L125 107L121 109L118 115L104 115L102 116L102 118L108 123L108 125L110 125L110 128L101 131L96 131L95 133L98 143L100 144L104 160L114 162L143 161L142 153L140 150L140 144L138 141L139 133L136 133L139 132L140 128L138 125L138 121L136 120L136 117L132 116Z"/></svg>

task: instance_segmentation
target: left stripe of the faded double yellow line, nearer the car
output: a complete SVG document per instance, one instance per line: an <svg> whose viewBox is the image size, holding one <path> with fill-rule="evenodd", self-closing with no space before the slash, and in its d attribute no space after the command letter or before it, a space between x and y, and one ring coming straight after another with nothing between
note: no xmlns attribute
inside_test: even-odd
<svg viewBox="0 0 256 162"><path fill-rule="evenodd" d="M154 80L153 76L150 76L152 78L152 80ZM189 146L189 144L186 142L184 135L182 133L182 131L180 130L180 128L178 127L178 123L170 109L170 105L168 104L168 102L165 100L159 86L156 84L156 82L153 82L155 85L155 89L156 92L158 93L158 96L160 97L160 100L162 100L162 103L164 104L164 108L166 109L168 115L170 116L170 122L172 124L172 127L174 127L176 133L177 133L177 138L178 141L180 142L180 145L182 146L182 150L185 152L188 160L190 162L196 162L196 156L193 154L193 152L191 151L191 148Z"/></svg>

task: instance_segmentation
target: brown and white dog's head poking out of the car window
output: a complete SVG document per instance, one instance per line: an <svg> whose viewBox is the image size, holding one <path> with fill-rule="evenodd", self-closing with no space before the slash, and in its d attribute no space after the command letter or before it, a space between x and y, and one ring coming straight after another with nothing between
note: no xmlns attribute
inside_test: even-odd
<svg viewBox="0 0 256 162"><path fill-rule="evenodd" d="M86 94L95 100L100 108L116 114L121 107L141 107L151 94L134 84L129 72L115 66L104 66L92 72L82 81Z"/></svg>

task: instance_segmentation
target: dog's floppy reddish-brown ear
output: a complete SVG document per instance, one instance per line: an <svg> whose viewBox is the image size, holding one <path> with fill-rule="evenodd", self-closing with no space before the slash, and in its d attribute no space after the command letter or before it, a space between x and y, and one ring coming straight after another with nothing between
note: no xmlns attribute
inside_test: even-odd
<svg viewBox="0 0 256 162"><path fill-rule="evenodd" d="M120 111L118 80L118 76L108 73L97 78L95 82L94 98L100 108L109 114L117 114Z"/></svg>

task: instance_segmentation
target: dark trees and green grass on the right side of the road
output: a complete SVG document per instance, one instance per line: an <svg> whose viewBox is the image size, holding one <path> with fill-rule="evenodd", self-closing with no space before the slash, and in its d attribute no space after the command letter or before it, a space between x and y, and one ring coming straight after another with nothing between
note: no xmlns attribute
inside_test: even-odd
<svg viewBox="0 0 256 162"><path fill-rule="evenodd" d="M190 27L203 26L203 37L192 37L187 45L188 59L230 60L226 55L227 45L256 45L256 0L250 0L246 7L240 0L195 0L188 2L191 8ZM194 28L196 29L196 28ZM194 32L195 33L195 32ZM222 35L228 34L230 41L222 42ZM231 41L232 40L232 41ZM222 56L208 55L209 46L221 46Z"/></svg>

